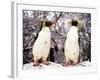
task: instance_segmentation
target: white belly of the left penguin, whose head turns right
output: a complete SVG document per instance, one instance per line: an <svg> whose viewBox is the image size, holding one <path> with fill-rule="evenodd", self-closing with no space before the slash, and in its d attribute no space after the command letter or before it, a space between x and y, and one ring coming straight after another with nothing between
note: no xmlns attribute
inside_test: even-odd
<svg viewBox="0 0 100 80"><path fill-rule="evenodd" d="M46 60L50 51L51 33L48 27L39 32L39 36L35 41L32 49L34 60L40 58Z"/></svg>

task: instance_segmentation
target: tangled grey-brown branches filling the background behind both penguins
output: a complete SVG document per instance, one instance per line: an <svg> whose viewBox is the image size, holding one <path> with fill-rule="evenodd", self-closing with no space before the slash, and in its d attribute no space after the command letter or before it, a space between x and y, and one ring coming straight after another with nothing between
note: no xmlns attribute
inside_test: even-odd
<svg viewBox="0 0 100 80"><path fill-rule="evenodd" d="M91 62L91 14L74 12L55 12L55 11L35 11L23 10L23 64L32 62L32 46L41 28L43 16L47 21L54 22L50 27L51 49L48 60L63 64L65 62L64 43L69 26L66 24L68 19L78 19L80 21L79 62Z"/></svg>

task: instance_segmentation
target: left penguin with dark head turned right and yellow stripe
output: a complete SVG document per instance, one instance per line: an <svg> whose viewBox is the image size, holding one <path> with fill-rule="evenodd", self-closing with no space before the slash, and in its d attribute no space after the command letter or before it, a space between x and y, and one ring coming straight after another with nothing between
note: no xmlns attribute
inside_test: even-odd
<svg viewBox="0 0 100 80"><path fill-rule="evenodd" d="M32 54L34 57L33 66L38 66L40 64L39 61L45 65L49 64L47 57L50 52L51 32L49 27L51 25L52 22L46 21L45 19L41 22L40 32L32 47Z"/></svg>

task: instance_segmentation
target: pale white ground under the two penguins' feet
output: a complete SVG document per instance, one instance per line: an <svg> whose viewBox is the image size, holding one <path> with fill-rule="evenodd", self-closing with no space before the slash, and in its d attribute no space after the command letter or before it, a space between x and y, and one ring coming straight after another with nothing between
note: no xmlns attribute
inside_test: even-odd
<svg viewBox="0 0 100 80"><path fill-rule="evenodd" d="M68 67L90 67L91 66L91 62L89 61L84 61L81 62L75 66L68 66ZM57 63L53 63L50 62L50 65L44 65L44 64L40 64L39 66L35 66L33 67L33 63L28 63L28 64L24 64L23 65L23 69L28 69L28 70L36 70L36 69L56 69L56 68L66 68L65 66L62 66L61 64L57 64Z"/></svg>

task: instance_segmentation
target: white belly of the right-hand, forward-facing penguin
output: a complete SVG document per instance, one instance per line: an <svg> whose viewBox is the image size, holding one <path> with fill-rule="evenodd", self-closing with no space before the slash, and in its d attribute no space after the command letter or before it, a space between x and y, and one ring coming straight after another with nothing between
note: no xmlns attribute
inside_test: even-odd
<svg viewBox="0 0 100 80"><path fill-rule="evenodd" d="M77 28L72 26L67 34L65 41L65 58L66 61L72 60L73 62L78 61L79 57L79 43L78 43L78 32Z"/></svg>

